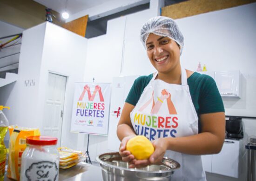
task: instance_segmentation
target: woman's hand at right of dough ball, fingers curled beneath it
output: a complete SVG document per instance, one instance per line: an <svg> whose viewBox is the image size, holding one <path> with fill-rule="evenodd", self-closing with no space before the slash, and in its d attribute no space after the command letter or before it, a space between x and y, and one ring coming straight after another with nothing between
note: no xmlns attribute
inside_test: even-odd
<svg viewBox="0 0 256 181"><path fill-rule="evenodd" d="M133 164L129 165L129 168L140 168L145 167L150 164L158 163L162 161L162 157L164 156L167 149L167 142L164 138L156 139L152 142L155 151L149 157L148 160L135 160Z"/></svg>

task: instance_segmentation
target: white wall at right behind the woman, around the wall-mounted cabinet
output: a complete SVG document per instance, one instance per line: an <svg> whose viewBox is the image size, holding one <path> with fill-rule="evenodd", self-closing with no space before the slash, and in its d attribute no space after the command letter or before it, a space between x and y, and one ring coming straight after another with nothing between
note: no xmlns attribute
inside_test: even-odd
<svg viewBox="0 0 256 181"><path fill-rule="evenodd" d="M256 117L256 3L178 19L185 37L182 64L195 71L240 70L242 96L223 97L226 115Z"/></svg>

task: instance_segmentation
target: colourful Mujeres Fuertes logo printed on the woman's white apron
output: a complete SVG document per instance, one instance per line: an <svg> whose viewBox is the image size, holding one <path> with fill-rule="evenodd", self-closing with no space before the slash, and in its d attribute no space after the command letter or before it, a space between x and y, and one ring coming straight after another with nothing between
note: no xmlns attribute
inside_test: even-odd
<svg viewBox="0 0 256 181"><path fill-rule="evenodd" d="M150 114L141 114L152 103ZM174 116L160 116L159 110L163 104L167 104L168 113ZM142 104L142 106L135 112L134 123L135 130L138 135L144 135L148 139L155 140L160 137L176 137L178 127L178 116L175 106L171 100L171 94L163 89L160 97L157 97L157 101L154 100L154 91L150 99ZM153 114L153 115L152 115Z"/></svg>

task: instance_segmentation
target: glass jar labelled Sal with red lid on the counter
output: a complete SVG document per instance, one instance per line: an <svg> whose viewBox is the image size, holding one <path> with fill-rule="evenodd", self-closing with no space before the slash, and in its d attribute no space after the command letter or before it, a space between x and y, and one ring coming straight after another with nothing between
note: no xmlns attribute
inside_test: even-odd
<svg viewBox="0 0 256 181"><path fill-rule="evenodd" d="M20 181L58 181L60 155L57 138L29 136L21 157Z"/></svg>

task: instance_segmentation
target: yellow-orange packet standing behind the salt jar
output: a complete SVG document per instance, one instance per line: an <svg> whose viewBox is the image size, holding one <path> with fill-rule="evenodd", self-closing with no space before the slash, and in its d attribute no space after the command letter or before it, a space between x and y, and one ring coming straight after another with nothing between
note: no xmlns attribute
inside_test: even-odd
<svg viewBox="0 0 256 181"><path fill-rule="evenodd" d="M21 156L26 149L26 138L28 136L40 136L39 129L9 127L9 159L7 177L16 181L20 180Z"/></svg>

